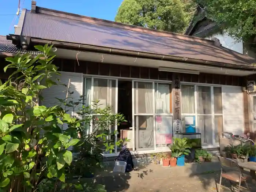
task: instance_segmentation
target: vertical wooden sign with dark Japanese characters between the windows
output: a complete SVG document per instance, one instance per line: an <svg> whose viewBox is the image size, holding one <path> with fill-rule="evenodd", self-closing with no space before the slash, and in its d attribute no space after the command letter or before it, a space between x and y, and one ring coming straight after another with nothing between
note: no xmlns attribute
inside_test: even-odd
<svg viewBox="0 0 256 192"><path fill-rule="evenodd" d="M173 98L173 128L174 132L181 130L181 95L180 95L180 75L173 73L172 79L172 98Z"/></svg>

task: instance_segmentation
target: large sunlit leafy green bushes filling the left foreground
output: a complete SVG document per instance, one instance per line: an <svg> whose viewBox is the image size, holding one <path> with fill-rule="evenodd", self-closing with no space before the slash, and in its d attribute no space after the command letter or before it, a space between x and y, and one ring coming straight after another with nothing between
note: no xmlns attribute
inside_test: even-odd
<svg viewBox="0 0 256 192"><path fill-rule="evenodd" d="M6 58L10 64L4 71L14 68L14 72L7 82L0 82L0 191L92 191L86 183L77 183L78 180L74 183L73 176L92 172L88 166L95 168L98 162L87 161L87 167L80 167L80 173L75 172L74 167L84 166L81 164L84 156L74 157L70 148L83 151L91 159L100 156L102 151L113 150L111 139L116 132L111 136L108 131L124 117L112 114L110 107L98 108L97 102L77 110L83 96L73 102L73 93L68 89L69 99L58 98L60 105L50 108L38 105L42 90L61 82L54 79L60 74L52 63L52 46L35 48L44 54L34 59L30 59L29 54ZM70 115L70 110L74 115ZM88 132L91 121L93 131ZM63 129L63 124L67 129ZM76 165L77 162L80 164ZM105 191L101 185L96 188L96 191Z"/></svg>

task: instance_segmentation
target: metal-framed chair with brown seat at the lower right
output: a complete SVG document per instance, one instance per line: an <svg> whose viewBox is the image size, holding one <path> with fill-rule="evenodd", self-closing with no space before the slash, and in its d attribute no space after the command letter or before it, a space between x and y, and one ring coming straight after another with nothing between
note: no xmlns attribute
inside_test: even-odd
<svg viewBox="0 0 256 192"><path fill-rule="evenodd" d="M229 180L230 184L231 181L238 183L238 192L240 192L241 182L245 182L247 189L249 190L248 184L246 180L250 178L250 176L242 173L238 163L232 159L225 158L219 156L219 162L221 163L221 178L219 180L219 190L221 191L221 180L222 177ZM232 184L231 184L232 185ZM244 187L243 187L244 188Z"/></svg>

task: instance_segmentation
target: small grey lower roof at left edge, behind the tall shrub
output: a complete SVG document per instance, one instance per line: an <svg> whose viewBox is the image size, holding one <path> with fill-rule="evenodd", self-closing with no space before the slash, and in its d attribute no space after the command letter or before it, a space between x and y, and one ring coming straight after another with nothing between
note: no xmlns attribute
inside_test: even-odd
<svg viewBox="0 0 256 192"><path fill-rule="evenodd" d="M20 54L30 53L33 56L41 53L39 51L26 51L23 49L19 49L16 47L16 45L12 44L12 41L7 40L6 36L0 35L0 53L17 54L18 52L20 52Z"/></svg>

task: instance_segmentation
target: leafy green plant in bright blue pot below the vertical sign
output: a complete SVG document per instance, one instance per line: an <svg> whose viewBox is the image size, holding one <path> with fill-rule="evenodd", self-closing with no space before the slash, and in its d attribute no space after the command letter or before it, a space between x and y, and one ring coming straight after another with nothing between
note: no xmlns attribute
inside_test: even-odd
<svg viewBox="0 0 256 192"><path fill-rule="evenodd" d="M170 146L172 153L177 153L177 166L185 165L185 155L191 153L189 150L191 145L188 144L187 138L174 138L173 144Z"/></svg>

